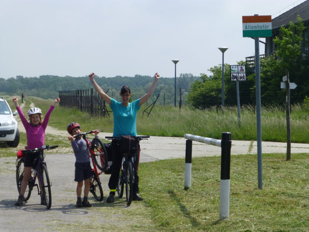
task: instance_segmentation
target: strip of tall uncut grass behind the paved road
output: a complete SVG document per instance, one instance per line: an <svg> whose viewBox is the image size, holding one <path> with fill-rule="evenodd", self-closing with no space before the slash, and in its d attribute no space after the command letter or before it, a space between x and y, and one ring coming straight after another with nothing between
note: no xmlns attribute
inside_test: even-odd
<svg viewBox="0 0 309 232"><path fill-rule="evenodd" d="M36 106L46 112L53 100L41 100L29 97ZM13 103L13 102L12 102ZM214 108L196 110L183 106L181 110L173 106L155 105L150 115L143 111L147 105L142 105L138 111L137 132L141 135L183 137L184 133L221 139L222 132L231 132L232 140L256 140L256 114L251 106L241 108L241 124L238 124L237 107L225 107L224 114L217 114ZM149 109L147 110L149 112ZM294 105L291 109L291 142L309 143L309 114L302 105ZM75 108L56 107L52 113L49 125L60 130L66 130L70 122L78 122L83 130L96 127L101 131L112 132L113 119L95 118L82 113ZM262 107L262 140L286 142L285 107Z"/></svg>

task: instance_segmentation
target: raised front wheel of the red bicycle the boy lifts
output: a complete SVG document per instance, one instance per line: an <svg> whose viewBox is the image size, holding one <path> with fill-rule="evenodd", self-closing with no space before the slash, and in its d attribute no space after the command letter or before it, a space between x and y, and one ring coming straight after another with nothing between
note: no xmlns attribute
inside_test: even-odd
<svg viewBox="0 0 309 232"><path fill-rule="evenodd" d="M91 155L98 169L104 171L107 168L108 158L106 149L99 138L94 138L91 142Z"/></svg>

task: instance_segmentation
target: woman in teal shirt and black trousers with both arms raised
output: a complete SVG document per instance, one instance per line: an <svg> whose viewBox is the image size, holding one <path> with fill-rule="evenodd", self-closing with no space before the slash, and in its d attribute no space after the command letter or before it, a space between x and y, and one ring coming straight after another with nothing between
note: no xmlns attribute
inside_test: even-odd
<svg viewBox="0 0 309 232"><path fill-rule="evenodd" d="M137 99L133 102L129 103L131 97L131 90L127 86L123 86L120 90L121 102L116 101L113 98L110 98L99 85L94 80L94 73L89 75L89 79L95 88L95 90L99 93L99 95L103 98L105 102L107 102L112 110L113 110L113 118L114 118L114 137L121 137L121 135L132 135L137 136L136 132L136 116L137 111L140 109L140 106L143 105L154 92L155 87L158 83L160 75L155 73L155 80L148 92L142 96L140 99ZM112 154L113 154L113 165L112 165L112 173L109 178L108 187L110 189L109 196L106 199L107 203L111 203L114 201L116 186L118 183L122 154L120 152L120 144L118 144L117 140L112 140ZM144 200L139 194L138 189L138 173L137 166L138 162L134 163L134 184L133 184L133 198L132 200Z"/></svg>

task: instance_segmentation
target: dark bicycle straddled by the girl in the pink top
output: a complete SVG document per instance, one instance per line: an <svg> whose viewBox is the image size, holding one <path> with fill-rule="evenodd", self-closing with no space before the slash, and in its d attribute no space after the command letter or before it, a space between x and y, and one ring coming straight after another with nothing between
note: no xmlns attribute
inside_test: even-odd
<svg viewBox="0 0 309 232"><path fill-rule="evenodd" d="M55 149L58 146L48 146L44 145L42 148L35 148L35 149L29 149L29 150L22 150L21 152L23 154L26 153L37 153L37 157L33 163L32 172L30 175L30 178L28 180L27 188L24 193L25 201L29 200L31 191L33 187L37 187L38 195L43 196L44 203L46 205L46 208L50 208L52 205L52 193L51 193L51 182L49 181L49 176L47 172L46 163L44 161L44 150L50 150ZM20 194L20 187L21 182L23 180L23 165L24 165L24 157L21 157L20 159L16 160L16 183L17 183L17 190ZM36 184L36 177L39 177L39 185ZM40 191L40 187L42 188L42 191Z"/></svg>

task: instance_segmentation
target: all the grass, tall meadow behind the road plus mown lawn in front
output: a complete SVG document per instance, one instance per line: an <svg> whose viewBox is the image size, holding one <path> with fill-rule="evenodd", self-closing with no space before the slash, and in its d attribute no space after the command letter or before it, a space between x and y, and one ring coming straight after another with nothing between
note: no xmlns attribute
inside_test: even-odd
<svg viewBox="0 0 309 232"><path fill-rule="evenodd" d="M27 100L27 99L26 99ZM30 98L46 112L52 100ZM27 106L28 107L28 106ZM25 110L28 108L25 107ZM183 136L193 133L220 139L223 131L232 133L232 140L255 140L256 116L250 107L242 109L242 123L238 126L237 108L227 107L224 115L215 110L192 110L183 107L155 106L149 117L138 114L138 134L158 136ZM291 114L292 141L309 143L307 135L308 115L301 106L294 106ZM101 129L112 132L112 118L91 118L75 109L59 106L53 111L50 126L66 130L69 122L80 123L84 131ZM262 109L262 138L269 141L286 140L285 111L281 108ZM54 135L53 135L54 136ZM59 140L46 135L47 141ZM25 135L21 135L25 143ZM57 141L58 142L58 141ZM70 147L62 142L61 146ZM13 148L1 148L13 153ZM235 155L231 157L230 215L228 220L219 220L220 202L220 157L192 159L191 188L184 190L184 159L162 160L141 163L139 167L140 190L143 202L133 203L128 208L102 207L96 204L91 210L123 214L125 218L144 223L123 225L95 223L55 225L59 231L90 230L115 231L214 231L214 232L306 232L309 231L309 156L293 154L285 161L286 154L263 154L263 190L257 187L257 156ZM102 204L102 205L101 205ZM73 229L74 228L74 229Z"/></svg>

